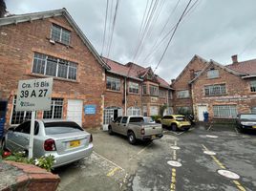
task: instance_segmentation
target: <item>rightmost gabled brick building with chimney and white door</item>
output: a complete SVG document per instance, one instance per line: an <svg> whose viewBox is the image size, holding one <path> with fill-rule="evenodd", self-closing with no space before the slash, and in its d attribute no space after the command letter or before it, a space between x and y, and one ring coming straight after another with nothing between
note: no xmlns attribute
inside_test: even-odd
<svg viewBox="0 0 256 191"><path fill-rule="evenodd" d="M202 73L190 81L194 114L200 121L234 118L239 113L256 113L256 59L221 65L211 60Z"/></svg>

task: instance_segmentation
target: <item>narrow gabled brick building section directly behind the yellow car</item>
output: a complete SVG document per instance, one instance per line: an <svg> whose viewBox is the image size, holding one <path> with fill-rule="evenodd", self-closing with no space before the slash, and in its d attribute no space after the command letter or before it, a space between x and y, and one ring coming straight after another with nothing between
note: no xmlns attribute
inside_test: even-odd
<svg viewBox="0 0 256 191"><path fill-rule="evenodd" d="M187 114L193 112L191 86L189 82L203 71L207 61L199 55L194 55L179 76L172 80L173 103L175 114Z"/></svg>

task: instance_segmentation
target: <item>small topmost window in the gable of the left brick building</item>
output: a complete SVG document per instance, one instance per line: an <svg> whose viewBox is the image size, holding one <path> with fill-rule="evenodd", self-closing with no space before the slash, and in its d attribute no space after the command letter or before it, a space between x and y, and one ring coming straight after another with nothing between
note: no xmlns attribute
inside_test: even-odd
<svg viewBox="0 0 256 191"><path fill-rule="evenodd" d="M53 25L51 39L69 45L71 41L71 32L60 26Z"/></svg>

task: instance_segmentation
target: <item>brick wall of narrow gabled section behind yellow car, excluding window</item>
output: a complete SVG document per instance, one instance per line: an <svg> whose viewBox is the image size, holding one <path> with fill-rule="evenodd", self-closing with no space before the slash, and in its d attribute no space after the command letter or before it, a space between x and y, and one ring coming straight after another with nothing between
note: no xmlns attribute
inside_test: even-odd
<svg viewBox="0 0 256 191"><path fill-rule="evenodd" d="M182 90L189 90L189 81L194 78L193 72L203 70L205 67L205 61L198 56L194 56L193 59L187 64L181 74L177 77L174 83L172 83L173 91L173 105L174 113L178 112L178 107L191 107L192 109L192 97L190 92L189 98L177 98L177 92Z"/></svg>

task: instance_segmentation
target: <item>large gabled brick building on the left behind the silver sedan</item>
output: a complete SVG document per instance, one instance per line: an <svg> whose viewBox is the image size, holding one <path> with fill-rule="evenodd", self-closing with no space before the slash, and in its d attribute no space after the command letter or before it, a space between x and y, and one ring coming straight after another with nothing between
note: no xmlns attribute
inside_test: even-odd
<svg viewBox="0 0 256 191"><path fill-rule="evenodd" d="M0 18L0 114L7 126L31 117L15 111L18 81L49 76L52 110L36 117L99 126L109 69L65 9ZM86 105L94 105L96 114L85 115Z"/></svg>

